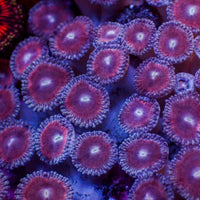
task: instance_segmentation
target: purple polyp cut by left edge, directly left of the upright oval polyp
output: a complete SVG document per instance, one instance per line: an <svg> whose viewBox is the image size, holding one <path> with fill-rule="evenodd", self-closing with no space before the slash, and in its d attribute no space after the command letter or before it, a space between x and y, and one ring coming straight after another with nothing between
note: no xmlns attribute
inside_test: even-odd
<svg viewBox="0 0 200 200"><path fill-rule="evenodd" d="M34 151L34 130L22 120L10 120L0 130L0 164L13 169L30 160Z"/></svg>

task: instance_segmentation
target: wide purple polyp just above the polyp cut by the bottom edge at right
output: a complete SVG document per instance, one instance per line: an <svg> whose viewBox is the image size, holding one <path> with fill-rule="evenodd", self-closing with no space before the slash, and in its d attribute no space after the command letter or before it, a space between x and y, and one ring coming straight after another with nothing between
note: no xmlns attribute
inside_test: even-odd
<svg viewBox="0 0 200 200"><path fill-rule="evenodd" d="M122 169L134 178L148 177L164 168L169 154L165 139L152 133L134 133L119 149Z"/></svg>

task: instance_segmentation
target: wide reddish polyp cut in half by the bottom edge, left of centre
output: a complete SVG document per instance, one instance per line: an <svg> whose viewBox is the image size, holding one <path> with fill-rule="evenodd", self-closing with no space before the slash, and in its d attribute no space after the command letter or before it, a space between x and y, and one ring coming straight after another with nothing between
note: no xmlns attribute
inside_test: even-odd
<svg viewBox="0 0 200 200"><path fill-rule="evenodd" d="M73 193L69 179L53 171L28 174L15 192L17 200L72 200Z"/></svg>

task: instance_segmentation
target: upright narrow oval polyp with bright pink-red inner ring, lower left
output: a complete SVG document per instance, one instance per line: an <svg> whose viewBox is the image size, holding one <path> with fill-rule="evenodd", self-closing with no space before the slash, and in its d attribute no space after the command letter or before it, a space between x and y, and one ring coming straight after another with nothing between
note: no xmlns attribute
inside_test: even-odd
<svg viewBox="0 0 200 200"><path fill-rule="evenodd" d="M63 162L71 154L75 132L61 115L54 115L40 124L35 137L40 159L50 165Z"/></svg>

